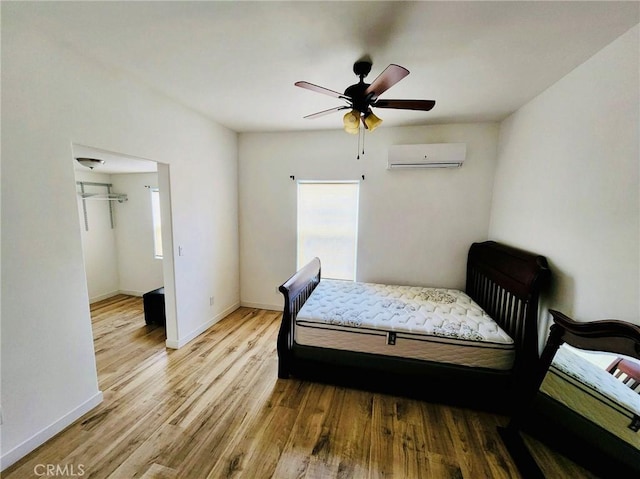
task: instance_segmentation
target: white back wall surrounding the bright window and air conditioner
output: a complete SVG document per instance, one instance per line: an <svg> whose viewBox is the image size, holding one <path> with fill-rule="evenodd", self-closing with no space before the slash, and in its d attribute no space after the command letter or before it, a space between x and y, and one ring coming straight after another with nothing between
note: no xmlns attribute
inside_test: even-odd
<svg viewBox="0 0 640 479"><path fill-rule="evenodd" d="M296 180L357 180L357 280L464 287L466 255L487 239L498 125L240 135L242 304L282 307L276 287L296 269ZM393 144L467 144L460 169L386 169ZM322 258L321 258L322 260Z"/></svg>

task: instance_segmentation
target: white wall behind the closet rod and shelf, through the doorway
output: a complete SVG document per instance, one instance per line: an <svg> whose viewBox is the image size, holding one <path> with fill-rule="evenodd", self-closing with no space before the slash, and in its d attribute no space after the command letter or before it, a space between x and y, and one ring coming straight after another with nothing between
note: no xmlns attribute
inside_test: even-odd
<svg viewBox="0 0 640 479"><path fill-rule="evenodd" d="M94 172L76 173L77 181L91 183L111 183L111 175ZM78 187L80 191L80 187ZM85 186L87 193L105 194L106 188ZM118 251L116 230L111 228L109 203L107 201L85 200L83 210L82 198L77 197L80 233L82 235L82 251L87 274L87 289L90 301L108 298L118 292ZM114 209L116 207L114 206ZM84 214L86 211L88 230L85 229ZM117 212L114 213L117 216Z"/></svg>

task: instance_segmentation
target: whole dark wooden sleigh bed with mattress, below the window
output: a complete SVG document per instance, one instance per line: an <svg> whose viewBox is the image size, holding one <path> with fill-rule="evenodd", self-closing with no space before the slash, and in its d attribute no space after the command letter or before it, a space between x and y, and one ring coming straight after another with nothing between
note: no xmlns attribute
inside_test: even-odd
<svg viewBox="0 0 640 479"><path fill-rule="evenodd" d="M316 310L322 309L322 302L334 307L334 317L323 320L317 329L332 329L337 324L338 332L333 331L336 339L327 336L322 346L301 344L300 337L306 323L300 321L298 315L307 300L314 293L321 282L320 260L314 259L291 276L280 291L284 296L284 308L280 332L278 335L278 376L280 378L306 378L342 384L352 387L364 387L394 394L409 395L434 401L459 404L483 409L503 411L512 404L519 378L531 373L538 360L538 302L540 293L546 287L550 272L546 258L531 252L513 248L495 241L474 243L471 245L467 257L467 279L464 292L443 290L437 288L415 289L412 287L389 287L387 285L371 285L368 283L352 283L347 288L358 291L373 289L382 290L384 295L390 295L385 308L397 307L415 312L422 312L430 318L437 317L441 310L455 313L455 308L439 303L448 301L462 301L463 310L470 311L475 324L478 315L482 321L478 327L487 328L485 319L495 321L492 331L505 333L507 339L512 340L512 358L507 365L494 366L491 361L486 364L472 365L458 361L457 351L461 354L470 345L475 345L473 334L462 338L445 337L448 333L442 331L427 333L428 340L415 343L411 357L398 355L393 348L400 338L407 341L418 339L413 329L397 330L398 325L379 321L380 325L367 327L358 321L336 321L335 316L343 316L332 305L331 290L324 288L321 304L315 305ZM403 289L404 288L404 289ZM407 288L409 288L407 290ZM320 290L319 290L320 291ZM408 292L409 291L409 292ZM410 294L409 294L410 293ZM319 294L316 293L316 294ZM327 296L329 295L329 296ZM418 301L425 298L426 302ZM405 298L409 299L405 301ZM416 300L416 296L419 296ZM314 296L315 299L317 296ZM449 299L460 298L460 299ZM335 298L338 304L344 299ZM367 299L368 301L368 299ZM403 304L398 301L405 301ZM418 301L418 302L416 302ZM435 302L435 304L434 304ZM400 304L400 306L398 306ZM456 306L456 305L453 305ZM346 304L350 318L366 315L367 310L362 305ZM431 309L429 309L431 308ZM433 308L436 311L433 312ZM308 308L307 308L308 309ZM478 312L480 310L480 312ZM303 310L308 316L308 312ZM386 310L385 310L386 314ZM384 318L383 318L384 319ZM415 318L414 318L415 319ZM436 318L437 319L437 318ZM456 323L458 318L453 315L447 317L447 325ZM332 324L333 323L333 324ZM355 323L355 324L351 324ZM427 324L427 323L425 323ZM440 324L440 323L439 323ZM459 326L459 325L458 325ZM385 330L384 328L387 328ZM428 329L421 325L422 329ZM433 329L433 328L432 328ZM489 328L491 329L491 328ZM366 330L366 331L365 331ZM349 335L348 333L355 333ZM364 334L364 333L367 334ZM339 334L338 334L339 333ZM368 334L371 333L371 334ZM342 335L342 336L340 336ZM429 336L431 335L431 336ZM382 341L389 348L365 352L359 338L373 338L371 341ZM349 340L349 338L353 340ZM375 339L378 337L379 339ZM420 339L425 339L423 336ZM433 341L431 341L431 339ZM437 350L444 345L447 354L441 359ZM494 345L493 345L494 346ZM489 348L492 349L493 346ZM502 346L494 349L500 349ZM388 354L384 351L390 351ZM491 352L485 356L491 359Z"/></svg>

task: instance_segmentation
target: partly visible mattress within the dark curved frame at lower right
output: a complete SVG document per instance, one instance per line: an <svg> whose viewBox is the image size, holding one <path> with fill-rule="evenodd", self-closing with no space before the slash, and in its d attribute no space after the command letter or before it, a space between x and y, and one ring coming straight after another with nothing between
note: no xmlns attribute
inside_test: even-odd
<svg viewBox="0 0 640 479"><path fill-rule="evenodd" d="M542 392L640 449L640 394L604 369L561 346L542 382Z"/></svg>

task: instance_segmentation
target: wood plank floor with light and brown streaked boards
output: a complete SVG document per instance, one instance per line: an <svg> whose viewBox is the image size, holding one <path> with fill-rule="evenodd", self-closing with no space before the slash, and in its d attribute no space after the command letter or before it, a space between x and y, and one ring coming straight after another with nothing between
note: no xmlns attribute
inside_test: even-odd
<svg viewBox="0 0 640 479"><path fill-rule="evenodd" d="M278 379L277 312L241 308L177 351L145 325L141 298L92 316L103 403L3 478L43 464L110 479L520 477L504 417ZM594 477L529 442L547 477Z"/></svg>

